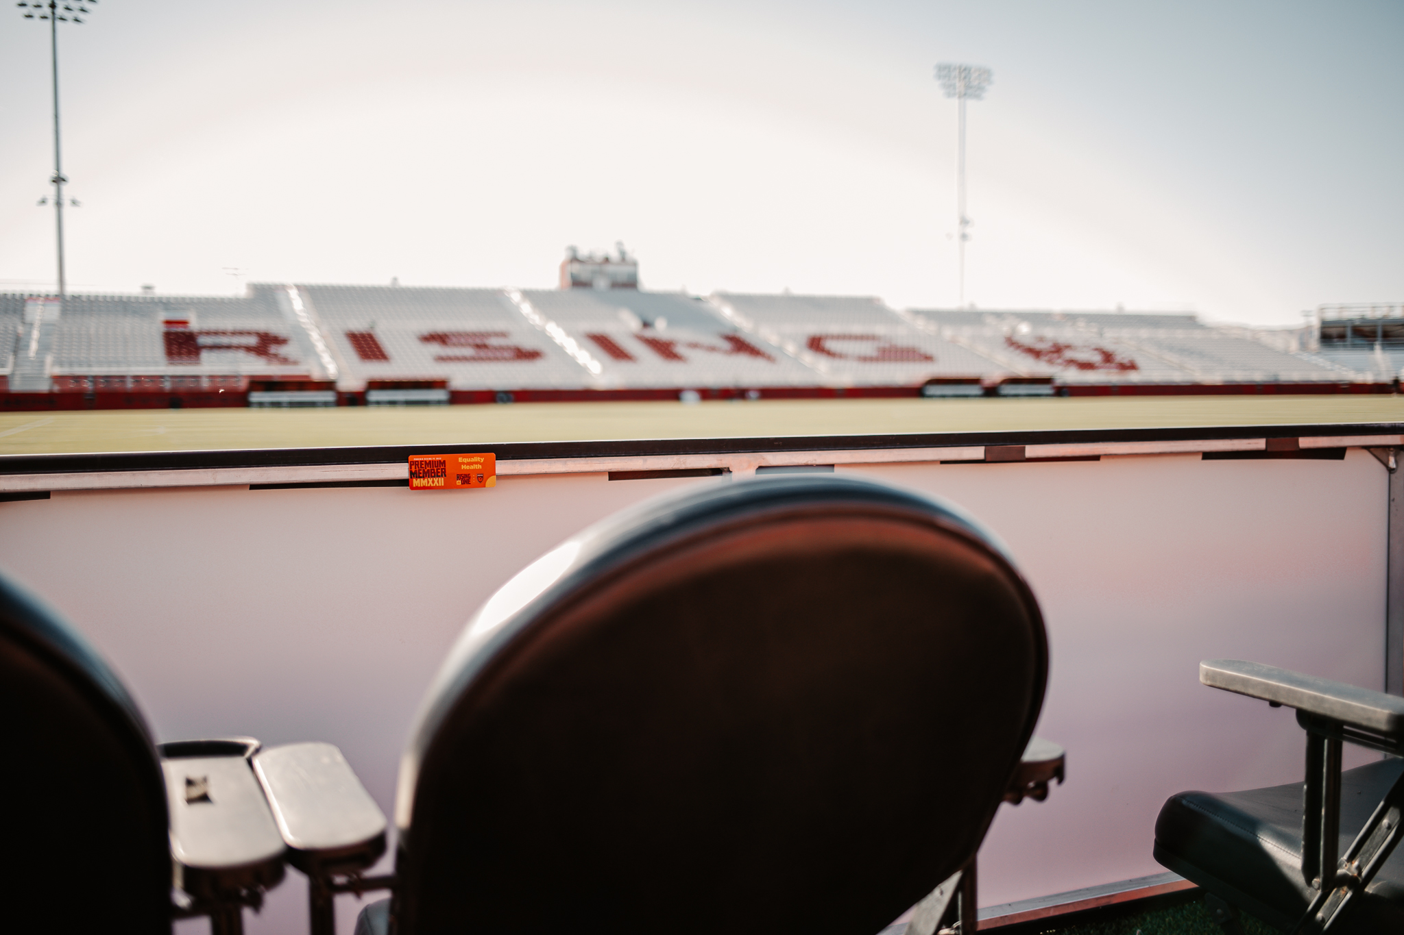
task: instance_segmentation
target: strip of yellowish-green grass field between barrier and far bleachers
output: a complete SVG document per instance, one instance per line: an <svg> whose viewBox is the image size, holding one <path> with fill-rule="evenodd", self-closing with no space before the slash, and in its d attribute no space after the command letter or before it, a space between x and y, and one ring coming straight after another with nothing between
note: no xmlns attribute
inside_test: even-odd
<svg viewBox="0 0 1404 935"><path fill-rule="evenodd" d="M0 454L1404 422L1404 397L534 402L0 415Z"/></svg>

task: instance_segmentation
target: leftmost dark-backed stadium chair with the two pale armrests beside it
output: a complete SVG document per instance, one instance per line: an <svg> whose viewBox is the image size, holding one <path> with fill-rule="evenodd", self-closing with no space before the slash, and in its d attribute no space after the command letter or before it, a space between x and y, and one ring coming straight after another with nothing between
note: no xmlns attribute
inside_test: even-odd
<svg viewBox="0 0 1404 935"><path fill-rule="evenodd" d="M257 740L234 737L167 743L157 756L112 670L4 579L0 709L6 931L170 932L173 918L208 915L212 935L237 935L243 908L282 880L285 856L316 876L369 866L385 849L383 819L375 851L369 796L355 777L350 788L329 744L258 753ZM298 763L316 767L300 784L286 775ZM300 820L275 823L265 777ZM299 805L309 791L337 807L336 831L309 827L324 814Z"/></svg>

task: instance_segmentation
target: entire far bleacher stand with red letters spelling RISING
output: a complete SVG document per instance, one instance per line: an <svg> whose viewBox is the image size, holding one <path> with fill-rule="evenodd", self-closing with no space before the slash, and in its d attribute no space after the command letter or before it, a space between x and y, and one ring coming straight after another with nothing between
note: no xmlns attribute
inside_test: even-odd
<svg viewBox="0 0 1404 935"><path fill-rule="evenodd" d="M79 294L62 310L52 297L3 294L0 334L8 335L0 388L11 393L336 377L343 390L365 388L366 402L397 404L444 402L451 390L490 401L524 391L691 398L844 387L890 395L924 384L927 395L980 395L981 384L1046 393L1049 381L1094 393L1386 384L1404 369L1404 349L1309 352L1306 332L1209 325L1191 314L897 311L862 296L637 289L254 285L241 297Z"/></svg>

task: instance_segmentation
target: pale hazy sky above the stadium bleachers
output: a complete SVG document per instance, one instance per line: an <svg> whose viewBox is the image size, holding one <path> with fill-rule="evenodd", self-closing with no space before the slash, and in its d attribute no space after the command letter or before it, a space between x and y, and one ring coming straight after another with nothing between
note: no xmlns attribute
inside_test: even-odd
<svg viewBox="0 0 1404 935"><path fill-rule="evenodd" d="M0 10L0 290L52 287L46 24ZM1404 4L101 0L60 24L69 282L555 285L1297 324L1404 301ZM241 271L241 279L226 272Z"/></svg>

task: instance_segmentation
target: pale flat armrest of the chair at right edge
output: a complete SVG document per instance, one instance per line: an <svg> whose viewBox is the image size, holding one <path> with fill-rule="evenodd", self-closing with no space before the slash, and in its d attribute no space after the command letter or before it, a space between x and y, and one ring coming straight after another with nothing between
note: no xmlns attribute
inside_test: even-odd
<svg viewBox="0 0 1404 935"><path fill-rule="evenodd" d="M1383 691L1241 659L1199 663L1199 681L1379 737L1404 740L1404 698Z"/></svg>

